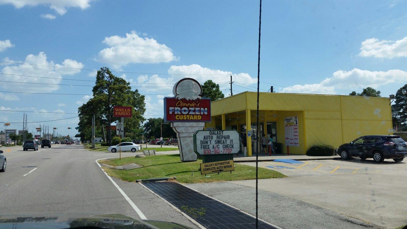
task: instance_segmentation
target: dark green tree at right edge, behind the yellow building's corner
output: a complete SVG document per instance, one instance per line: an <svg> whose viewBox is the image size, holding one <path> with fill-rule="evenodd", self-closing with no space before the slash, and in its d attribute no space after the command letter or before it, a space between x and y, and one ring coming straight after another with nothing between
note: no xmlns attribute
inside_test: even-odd
<svg viewBox="0 0 407 229"><path fill-rule="evenodd" d="M392 105L393 126L398 126L398 131L405 130L407 126L407 95L403 95L402 90L407 90L407 84L397 90Z"/></svg>

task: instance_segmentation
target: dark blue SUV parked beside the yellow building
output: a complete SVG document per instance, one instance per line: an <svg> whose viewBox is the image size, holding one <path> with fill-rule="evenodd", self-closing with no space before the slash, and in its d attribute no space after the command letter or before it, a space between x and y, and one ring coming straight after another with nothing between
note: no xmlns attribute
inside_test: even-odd
<svg viewBox="0 0 407 229"><path fill-rule="evenodd" d="M373 158L375 162L383 162L384 159L400 162L407 156L407 144L397 135L368 135L342 144L338 155L345 160L358 156L362 160Z"/></svg>

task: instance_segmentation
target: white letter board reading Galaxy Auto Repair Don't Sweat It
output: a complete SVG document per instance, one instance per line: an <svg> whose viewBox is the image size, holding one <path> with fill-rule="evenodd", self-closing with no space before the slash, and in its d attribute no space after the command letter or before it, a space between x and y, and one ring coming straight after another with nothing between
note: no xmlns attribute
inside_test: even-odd
<svg viewBox="0 0 407 229"><path fill-rule="evenodd" d="M199 155L237 154L240 150L236 130L198 130L194 134L194 151Z"/></svg>

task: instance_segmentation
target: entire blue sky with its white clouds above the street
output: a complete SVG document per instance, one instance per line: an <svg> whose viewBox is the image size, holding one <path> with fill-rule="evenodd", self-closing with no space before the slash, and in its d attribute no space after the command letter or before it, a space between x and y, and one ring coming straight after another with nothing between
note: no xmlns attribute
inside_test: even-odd
<svg viewBox="0 0 407 229"><path fill-rule="evenodd" d="M38 4L42 2L44 4ZM157 86L190 75L229 80L234 93L256 86L257 1L0 0L0 60L167 75L118 73L132 86ZM348 94L372 86L394 94L407 80L404 1L263 1L260 88L277 92ZM93 85L93 71L0 63L0 79ZM197 75L204 74L204 75ZM224 75L213 75L224 74ZM45 76L57 79L17 77ZM72 81L82 79L91 81ZM248 86L246 86L248 85ZM225 95L229 84L220 84ZM90 86L0 82L2 91L91 94ZM146 118L162 115L171 87L139 88ZM254 88L252 88L254 90ZM0 92L1 110L77 112L85 95ZM31 121L74 114L29 113ZM22 120L0 111L0 121ZM77 119L45 123L75 134ZM20 124L14 128L20 129ZM29 124L30 131L36 124ZM12 126L13 128L13 126Z"/></svg>

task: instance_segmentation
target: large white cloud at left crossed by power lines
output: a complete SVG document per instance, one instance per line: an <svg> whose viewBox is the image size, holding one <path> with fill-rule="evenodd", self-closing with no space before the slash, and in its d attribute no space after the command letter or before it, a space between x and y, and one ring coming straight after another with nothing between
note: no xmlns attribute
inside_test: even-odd
<svg viewBox="0 0 407 229"><path fill-rule="evenodd" d="M79 73L79 69L70 69L71 67L83 68L83 64L72 59L66 59L62 64L54 64L54 62L47 61L46 54L44 52L38 55L27 55L24 64L34 64L34 65L9 65L2 68L1 72L13 75L2 75L2 79L6 81L18 81L26 83L47 83L47 84L59 84L61 82L63 75L73 75ZM44 66L38 66L44 65ZM46 66L60 66L60 67L70 67L70 68L51 68ZM29 75L29 76L39 76L39 77L52 77L56 79L43 79L35 77L25 77L18 75ZM45 85L45 84L35 84L35 86L30 84L17 84L8 83L0 84L0 87L11 90L11 91L24 91L24 92L53 92L59 89L58 85Z"/></svg>

